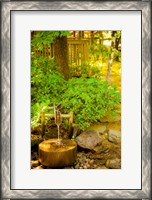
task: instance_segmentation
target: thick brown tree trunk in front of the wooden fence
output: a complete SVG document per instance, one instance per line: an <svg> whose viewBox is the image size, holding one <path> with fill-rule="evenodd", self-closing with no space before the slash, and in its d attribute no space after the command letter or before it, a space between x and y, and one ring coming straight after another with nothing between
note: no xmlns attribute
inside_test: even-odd
<svg viewBox="0 0 152 200"><path fill-rule="evenodd" d="M57 37L54 40L54 58L57 66L61 67L61 73L66 80L69 79L68 44L67 37Z"/></svg>

